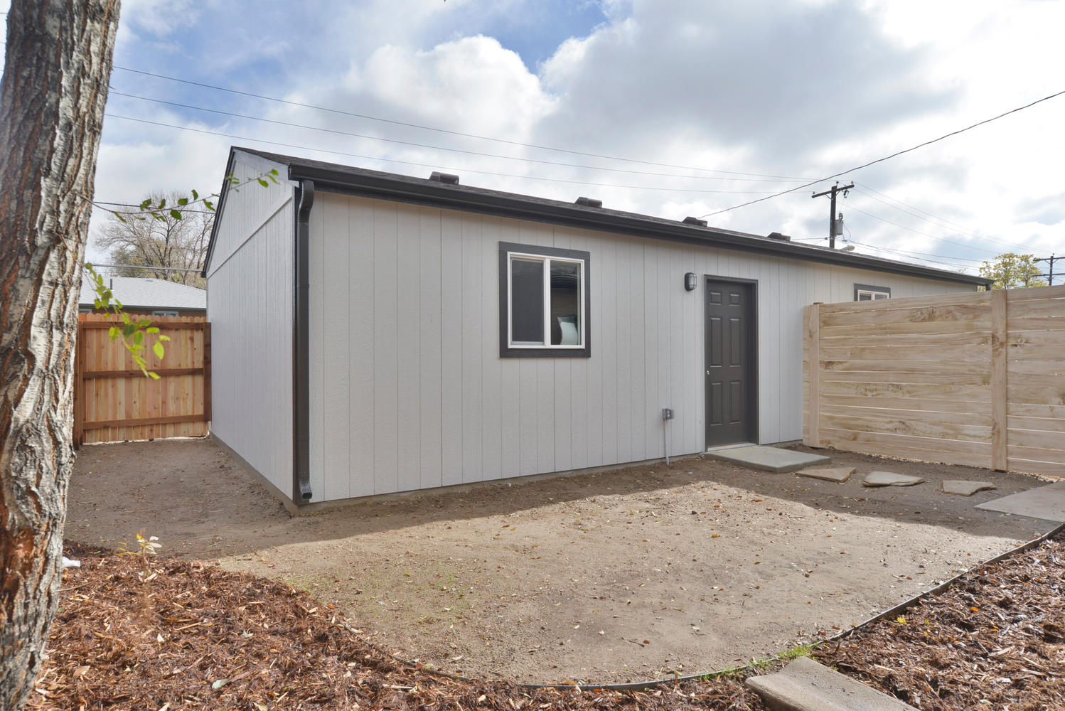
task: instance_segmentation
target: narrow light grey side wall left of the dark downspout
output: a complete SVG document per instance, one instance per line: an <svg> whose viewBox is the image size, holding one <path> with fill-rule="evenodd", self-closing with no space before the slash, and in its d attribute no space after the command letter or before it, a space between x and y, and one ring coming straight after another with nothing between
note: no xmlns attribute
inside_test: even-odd
<svg viewBox="0 0 1065 711"><path fill-rule="evenodd" d="M237 175L244 175L241 164L235 168ZM255 185L230 193L226 214L219 220L223 248L216 247L208 275L211 431L272 484L289 492L295 220L292 187ZM243 234L245 226L252 231Z"/></svg>

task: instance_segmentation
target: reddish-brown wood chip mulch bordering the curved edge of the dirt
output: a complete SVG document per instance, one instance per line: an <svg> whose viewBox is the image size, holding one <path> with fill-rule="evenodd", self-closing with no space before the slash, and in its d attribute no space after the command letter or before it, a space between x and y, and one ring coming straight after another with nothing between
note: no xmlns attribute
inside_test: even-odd
<svg viewBox="0 0 1065 711"><path fill-rule="evenodd" d="M743 674L644 691L448 678L360 641L337 611L279 582L77 546L67 556L82 567L65 575L30 709L766 708ZM1062 709L1063 574L1059 539L814 657L922 711Z"/></svg>

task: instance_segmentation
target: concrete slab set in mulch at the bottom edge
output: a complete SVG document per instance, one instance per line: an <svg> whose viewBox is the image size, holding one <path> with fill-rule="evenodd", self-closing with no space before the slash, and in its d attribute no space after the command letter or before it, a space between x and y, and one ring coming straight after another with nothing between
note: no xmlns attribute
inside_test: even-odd
<svg viewBox="0 0 1065 711"><path fill-rule="evenodd" d="M799 657L780 672L751 677L746 683L772 711L917 711L809 657Z"/></svg>

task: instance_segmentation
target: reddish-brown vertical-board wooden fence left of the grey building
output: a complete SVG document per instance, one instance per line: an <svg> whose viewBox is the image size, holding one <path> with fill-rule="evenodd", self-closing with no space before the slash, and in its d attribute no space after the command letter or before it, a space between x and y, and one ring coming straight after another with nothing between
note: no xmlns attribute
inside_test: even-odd
<svg viewBox="0 0 1065 711"><path fill-rule="evenodd" d="M146 352L149 369L159 375L152 380L133 363L121 340L111 341L113 323L105 314L78 316L75 445L207 434L211 325L202 316L151 317L151 325L170 337L163 344L162 362L150 347Z"/></svg>

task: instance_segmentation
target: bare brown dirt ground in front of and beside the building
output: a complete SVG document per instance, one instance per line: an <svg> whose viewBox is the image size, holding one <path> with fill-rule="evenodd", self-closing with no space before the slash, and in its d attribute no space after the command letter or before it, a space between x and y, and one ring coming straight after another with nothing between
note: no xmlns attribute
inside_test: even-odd
<svg viewBox="0 0 1065 711"><path fill-rule="evenodd" d="M857 624L1052 524L973 506L1043 482L831 453L837 484L702 459L291 517L208 440L84 447L66 538L310 591L409 659L479 678L694 674ZM873 469L918 486L864 489ZM965 498L943 479L994 481Z"/></svg>

